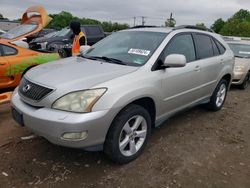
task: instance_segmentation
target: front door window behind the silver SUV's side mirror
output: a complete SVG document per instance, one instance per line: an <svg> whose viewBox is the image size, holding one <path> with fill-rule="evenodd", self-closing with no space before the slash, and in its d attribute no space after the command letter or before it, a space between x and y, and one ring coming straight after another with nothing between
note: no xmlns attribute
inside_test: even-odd
<svg viewBox="0 0 250 188"><path fill-rule="evenodd" d="M187 62L194 61L196 58L191 34L184 34L173 38L164 50L161 59L164 60L170 54L182 54L186 57Z"/></svg>

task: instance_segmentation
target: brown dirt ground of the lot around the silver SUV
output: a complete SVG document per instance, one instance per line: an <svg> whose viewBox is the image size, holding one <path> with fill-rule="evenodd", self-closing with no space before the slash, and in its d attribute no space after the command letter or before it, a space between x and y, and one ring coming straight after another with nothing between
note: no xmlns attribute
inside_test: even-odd
<svg viewBox="0 0 250 188"><path fill-rule="evenodd" d="M143 155L119 166L101 152L55 146L0 106L0 187L250 187L250 88L220 112L198 107L154 130Z"/></svg>

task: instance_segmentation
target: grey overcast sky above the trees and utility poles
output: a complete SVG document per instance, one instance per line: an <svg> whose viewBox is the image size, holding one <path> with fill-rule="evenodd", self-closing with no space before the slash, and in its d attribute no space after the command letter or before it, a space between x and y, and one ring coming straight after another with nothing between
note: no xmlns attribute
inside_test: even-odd
<svg viewBox="0 0 250 188"><path fill-rule="evenodd" d="M177 25L227 19L239 9L250 9L250 0L0 0L0 13L9 19L20 18L27 7L44 6L48 13L71 12L78 17L141 24L163 25L171 12Z"/></svg>

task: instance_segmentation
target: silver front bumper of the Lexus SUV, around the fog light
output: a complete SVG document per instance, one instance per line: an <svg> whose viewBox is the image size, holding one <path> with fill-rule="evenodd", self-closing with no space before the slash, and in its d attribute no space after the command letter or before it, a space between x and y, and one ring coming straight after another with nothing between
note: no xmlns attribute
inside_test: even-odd
<svg viewBox="0 0 250 188"><path fill-rule="evenodd" d="M115 117L115 110L91 113L71 113L50 108L37 108L24 103L17 92L12 96L12 107L22 114L23 122L35 134L53 144L88 148L104 143L109 126ZM65 140L64 133L87 132L84 140Z"/></svg>

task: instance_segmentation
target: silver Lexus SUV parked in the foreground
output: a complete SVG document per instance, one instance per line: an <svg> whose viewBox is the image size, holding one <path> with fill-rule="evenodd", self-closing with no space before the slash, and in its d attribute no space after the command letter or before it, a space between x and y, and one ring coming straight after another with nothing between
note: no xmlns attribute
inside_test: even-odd
<svg viewBox="0 0 250 188"><path fill-rule="evenodd" d="M233 66L233 52L212 32L124 30L28 71L12 97L13 117L54 144L103 149L128 163L170 116L198 104L220 110Z"/></svg>

